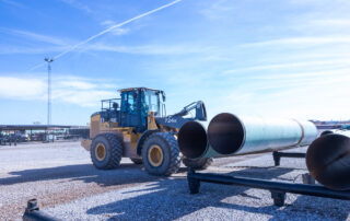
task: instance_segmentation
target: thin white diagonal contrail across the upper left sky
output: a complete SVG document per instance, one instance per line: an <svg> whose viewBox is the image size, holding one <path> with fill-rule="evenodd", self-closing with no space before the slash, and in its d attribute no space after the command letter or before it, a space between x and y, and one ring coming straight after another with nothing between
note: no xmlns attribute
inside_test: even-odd
<svg viewBox="0 0 350 221"><path fill-rule="evenodd" d="M66 54L68 54L68 53L70 53L70 51L73 51L73 50L77 49L78 47L80 47L80 46L82 46L82 45L85 45L86 43L95 39L96 37L100 37L101 35L104 35L104 34L106 34L106 33L109 33L110 31L113 31L113 30L115 30L115 28L117 28L117 27L121 27L122 25L126 25L126 24L128 24L128 23L130 23L130 22L133 22L133 21L136 21L136 20L139 20L139 19L141 19L141 18L143 18L143 16L147 16L147 15L149 15L149 14L153 14L154 12L158 12L158 11L161 11L161 10L163 10L163 9L166 9L166 8L168 8L168 7L173 5L173 4L176 4L176 3L180 2L180 1L182 1L182 0L172 1L171 3L164 4L164 5L160 7L160 8L153 9L153 10L151 10L151 11L148 11L148 12L143 13L143 14L137 15L137 16L135 16L135 18L132 18L132 19L129 19L129 20L127 20L127 21L125 21L125 22L115 24L115 25L108 27L107 30L104 30L104 31L100 32L98 34L93 35L93 36L89 37L88 39L82 40L82 42L80 42L80 43L71 46L69 49L67 49L67 50L58 54L57 56L54 57L54 60L56 60L56 59L65 56ZM32 71L32 70L35 70L35 69L44 66L45 63L46 63L46 62L39 63L39 65L37 65L37 66L34 66L34 67L32 67L30 70L31 70L31 71Z"/></svg>

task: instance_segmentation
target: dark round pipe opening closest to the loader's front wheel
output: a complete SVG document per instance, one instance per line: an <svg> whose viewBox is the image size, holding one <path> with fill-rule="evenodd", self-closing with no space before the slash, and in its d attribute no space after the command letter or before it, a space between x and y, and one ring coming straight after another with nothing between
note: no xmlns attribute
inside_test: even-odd
<svg viewBox="0 0 350 221"><path fill-rule="evenodd" d="M197 121L188 121L179 129L177 143L186 158L200 158L207 150L206 129Z"/></svg>

